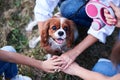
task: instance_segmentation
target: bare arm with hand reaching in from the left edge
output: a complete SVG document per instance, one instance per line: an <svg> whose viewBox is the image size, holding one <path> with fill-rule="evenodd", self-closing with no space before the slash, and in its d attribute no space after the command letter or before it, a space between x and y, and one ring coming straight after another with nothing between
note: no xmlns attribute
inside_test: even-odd
<svg viewBox="0 0 120 80"><path fill-rule="evenodd" d="M35 67L50 73L53 73L55 69L58 69L59 65L62 63L60 59L57 59L57 56L46 61L40 61L19 53L3 50L0 50L0 60Z"/></svg>

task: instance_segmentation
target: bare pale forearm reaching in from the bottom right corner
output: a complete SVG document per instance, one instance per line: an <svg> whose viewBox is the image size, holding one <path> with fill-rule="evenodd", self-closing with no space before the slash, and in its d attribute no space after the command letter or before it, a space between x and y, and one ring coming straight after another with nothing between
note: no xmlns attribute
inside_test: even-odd
<svg viewBox="0 0 120 80"><path fill-rule="evenodd" d="M83 67L80 67L77 63L72 63L67 69L63 70L63 72L78 76L84 80L119 80L120 74L115 75L113 77L107 77L100 73L93 72L87 70Z"/></svg>

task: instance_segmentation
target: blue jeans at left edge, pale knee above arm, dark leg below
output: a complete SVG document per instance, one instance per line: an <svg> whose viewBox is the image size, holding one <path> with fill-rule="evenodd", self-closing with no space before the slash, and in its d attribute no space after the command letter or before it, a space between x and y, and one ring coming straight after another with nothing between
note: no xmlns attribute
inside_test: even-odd
<svg viewBox="0 0 120 80"><path fill-rule="evenodd" d="M1 50L16 52L16 50L12 46L4 46ZM0 75L4 73L5 78L13 78L18 73L18 68L15 63L9 63L5 61L0 61Z"/></svg>

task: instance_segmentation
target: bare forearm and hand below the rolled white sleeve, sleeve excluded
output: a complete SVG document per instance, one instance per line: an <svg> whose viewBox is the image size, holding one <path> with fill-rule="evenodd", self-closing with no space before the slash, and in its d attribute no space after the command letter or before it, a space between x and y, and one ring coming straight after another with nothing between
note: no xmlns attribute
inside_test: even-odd
<svg viewBox="0 0 120 80"><path fill-rule="evenodd" d="M65 64L62 65L62 68L66 69L78 55L80 55L85 49L97 42L98 39L92 35L88 35L82 42L80 42L75 48L69 50L68 52L61 55L61 58L64 59Z"/></svg>

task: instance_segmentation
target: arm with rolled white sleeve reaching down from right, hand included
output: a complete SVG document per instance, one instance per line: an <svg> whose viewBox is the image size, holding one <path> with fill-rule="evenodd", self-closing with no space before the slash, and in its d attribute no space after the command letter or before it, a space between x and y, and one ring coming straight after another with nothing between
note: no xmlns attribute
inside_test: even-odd
<svg viewBox="0 0 120 80"><path fill-rule="evenodd" d="M65 69L67 68L74 60L75 58L80 55L85 49L93 45L98 40L102 43L106 42L106 37L111 35L114 31L114 26L108 26L105 25L100 30L96 31L92 27L88 30L88 36L80 42L75 48L72 50L69 50L68 52L61 55L61 57L64 59L65 63L62 65L62 67Z"/></svg>

